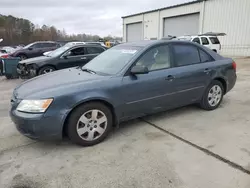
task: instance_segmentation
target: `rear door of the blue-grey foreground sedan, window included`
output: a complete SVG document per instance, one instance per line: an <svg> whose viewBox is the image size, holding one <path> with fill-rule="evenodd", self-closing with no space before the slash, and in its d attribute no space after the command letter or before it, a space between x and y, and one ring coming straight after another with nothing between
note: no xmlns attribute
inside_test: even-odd
<svg viewBox="0 0 250 188"><path fill-rule="evenodd" d="M176 105L186 105L198 101L211 80L213 58L202 48L186 43L172 44L174 54L173 101Z"/></svg>

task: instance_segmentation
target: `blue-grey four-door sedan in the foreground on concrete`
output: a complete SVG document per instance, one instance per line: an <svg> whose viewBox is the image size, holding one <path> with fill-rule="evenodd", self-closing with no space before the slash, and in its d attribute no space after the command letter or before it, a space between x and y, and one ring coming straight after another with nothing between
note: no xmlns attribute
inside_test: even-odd
<svg viewBox="0 0 250 188"><path fill-rule="evenodd" d="M10 115L27 137L55 139L65 131L73 142L89 146L122 121L193 103L214 110L235 82L235 62L201 45L126 43L82 68L21 84Z"/></svg>

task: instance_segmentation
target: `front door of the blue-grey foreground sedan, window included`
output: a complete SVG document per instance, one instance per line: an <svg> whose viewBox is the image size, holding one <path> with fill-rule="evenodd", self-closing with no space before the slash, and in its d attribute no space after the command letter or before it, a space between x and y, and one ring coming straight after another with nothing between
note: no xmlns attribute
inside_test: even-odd
<svg viewBox="0 0 250 188"><path fill-rule="evenodd" d="M168 45L154 47L135 63L146 66L149 73L129 74L123 78L120 93L124 101L125 119L168 108L173 92L172 80L169 77L171 59ZM170 97L167 97L168 95Z"/></svg>

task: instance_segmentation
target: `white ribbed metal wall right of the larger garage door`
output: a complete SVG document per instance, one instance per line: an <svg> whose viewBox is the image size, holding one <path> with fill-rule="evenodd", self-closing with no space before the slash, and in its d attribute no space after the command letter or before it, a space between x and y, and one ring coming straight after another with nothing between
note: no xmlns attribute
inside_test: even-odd
<svg viewBox="0 0 250 188"><path fill-rule="evenodd" d="M250 56L250 0L205 2L202 32L224 32L222 54Z"/></svg>

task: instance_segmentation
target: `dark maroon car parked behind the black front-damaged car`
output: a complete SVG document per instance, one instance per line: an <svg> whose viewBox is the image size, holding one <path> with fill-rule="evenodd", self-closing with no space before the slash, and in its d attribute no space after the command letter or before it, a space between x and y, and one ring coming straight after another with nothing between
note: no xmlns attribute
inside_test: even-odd
<svg viewBox="0 0 250 188"><path fill-rule="evenodd" d="M60 47L59 43L44 41L44 42L34 42L25 46L24 48L15 51L10 54L12 57L19 57L22 60L42 56L44 52L52 51Z"/></svg>

